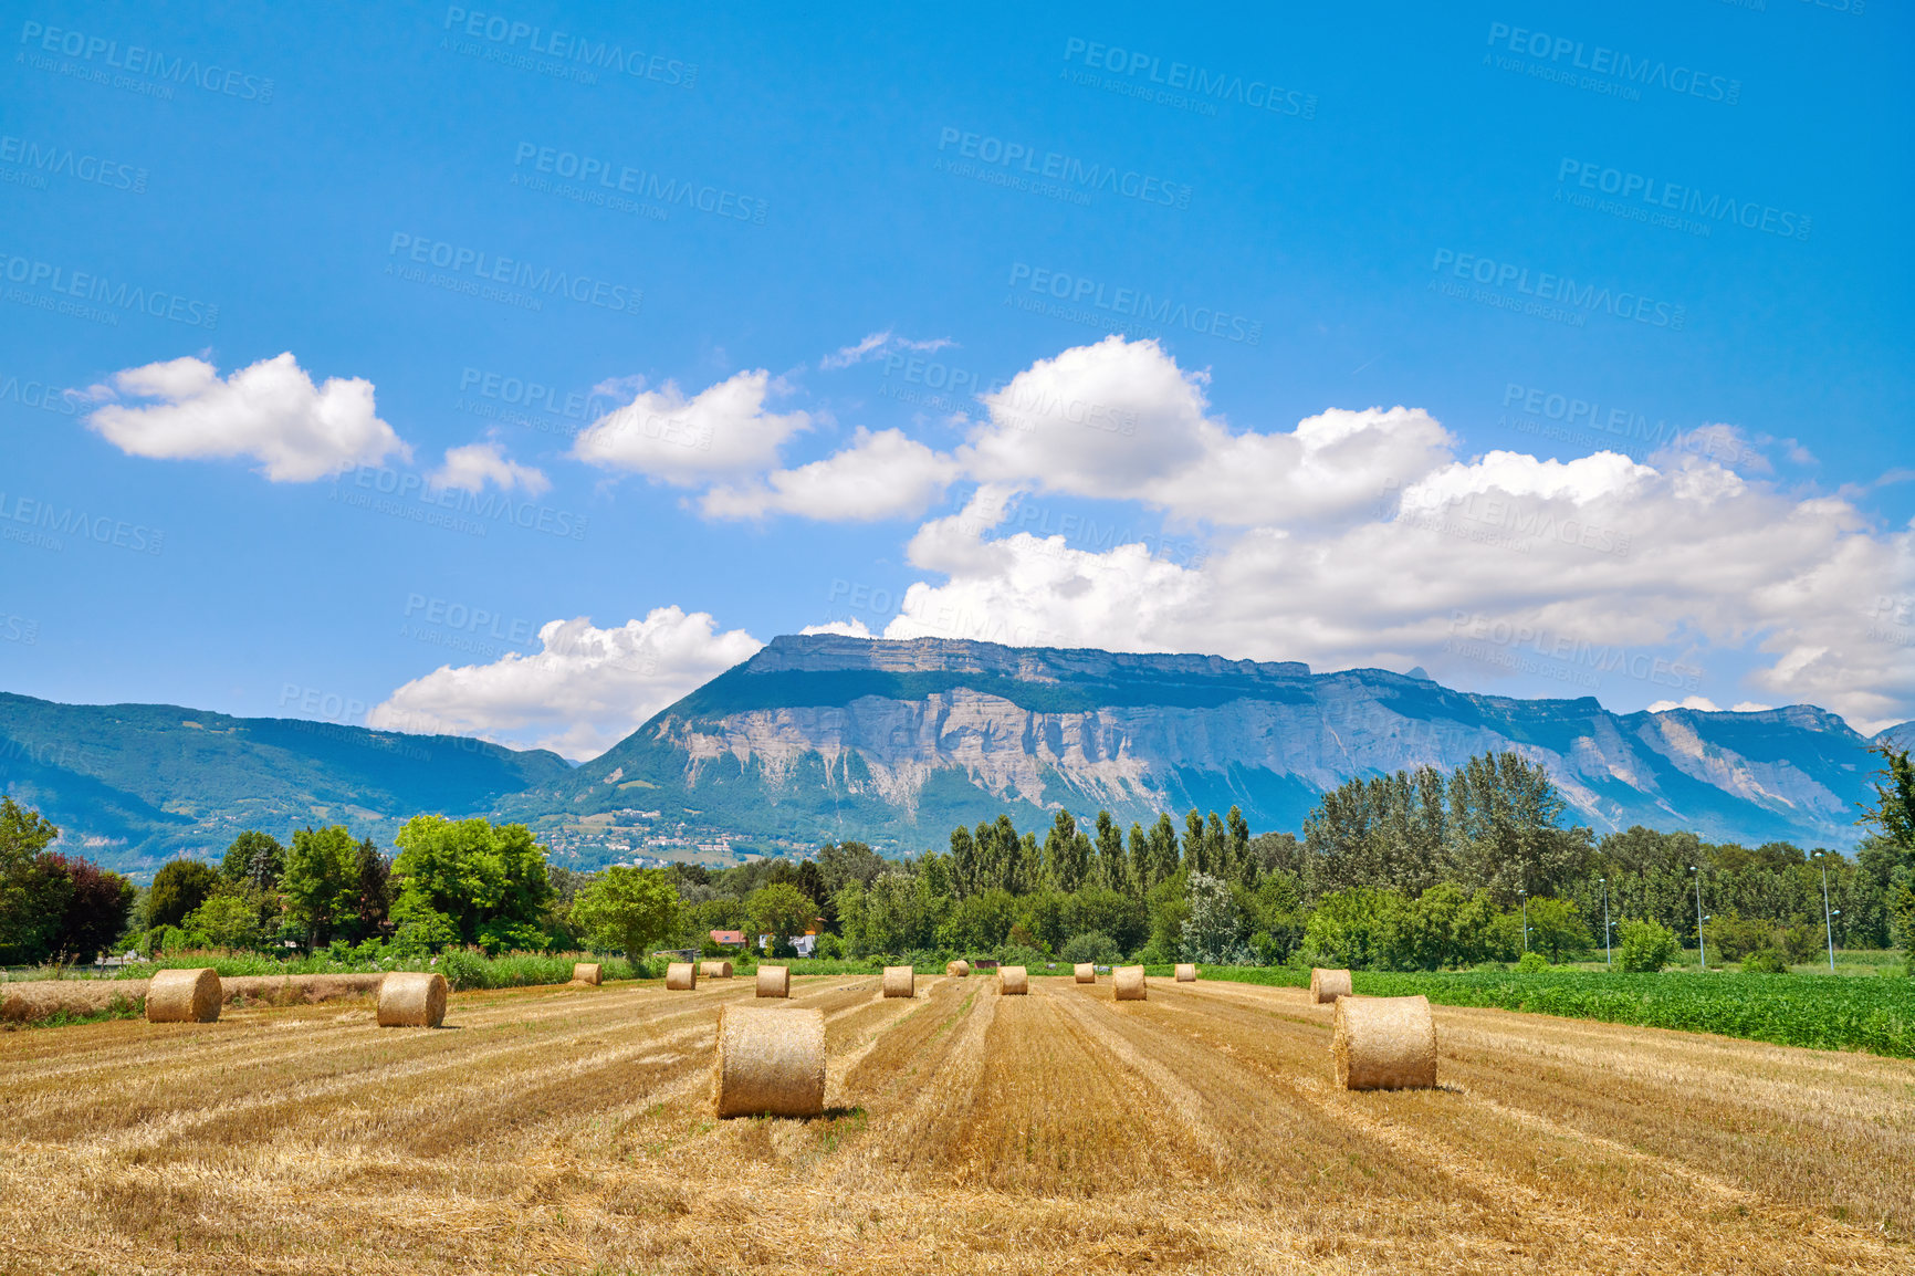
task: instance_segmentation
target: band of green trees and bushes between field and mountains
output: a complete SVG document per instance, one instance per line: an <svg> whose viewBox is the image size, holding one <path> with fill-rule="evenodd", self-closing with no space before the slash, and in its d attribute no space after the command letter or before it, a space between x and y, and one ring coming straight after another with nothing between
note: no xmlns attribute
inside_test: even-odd
<svg viewBox="0 0 1915 1276"><path fill-rule="evenodd" d="M1300 837L1252 835L1235 807L1128 830L1107 810L1057 810L1042 837L998 816L906 860L843 841L804 860L576 874L548 864L525 826L417 816L393 856L345 826L301 830L289 845L247 832L216 866L174 860L147 891L48 851L57 830L8 799L0 962L84 960L115 939L643 956L714 950L712 931L766 935L787 954L789 939L816 929L820 956L1440 969L1601 954L1607 906L1607 939L1630 966L1660 968L1701 935L1720 960L1773 968L1812 960L1831 937L1915 943L1915 768L1905 753L1879 753L1877 801L1861 818L1871 833L1854 856L1647 828L1597 839L1565 824L1547 772L1517 753L1350 780L1321 795Z"/></svg>

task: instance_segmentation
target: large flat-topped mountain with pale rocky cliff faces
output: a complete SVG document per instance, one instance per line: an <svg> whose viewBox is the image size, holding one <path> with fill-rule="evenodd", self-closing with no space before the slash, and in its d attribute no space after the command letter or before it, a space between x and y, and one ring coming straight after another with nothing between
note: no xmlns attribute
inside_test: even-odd
<svg viewBox="0 0 1915 1276"><path fill-rule="evenodd" d="M1059 805L1128 822L1235 803L1252 828L1295 830L1352 776L1515 749L1599 832L1852 845L1865 745L1810 705L1611 715L1375 669L814 636L774 640L580 768L574 805L640 784L663 789L647 805L682 797L739 832L841 835L848 810L860 830L843 835L913 845Z"/></svg>

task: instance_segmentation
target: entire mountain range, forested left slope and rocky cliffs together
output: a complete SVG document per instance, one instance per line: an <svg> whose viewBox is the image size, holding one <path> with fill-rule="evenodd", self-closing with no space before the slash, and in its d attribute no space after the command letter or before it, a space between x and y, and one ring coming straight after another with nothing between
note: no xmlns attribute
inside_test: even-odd
<svg viewBox="0 0 1915 1276"><path fill-rule="evenodd" d="M1875 740L1907 745L1915 724ZM1614 715L1381 669L835 634L774 638L576 768L462 736L0 694L0 791L142 877L243 828L347 822L391 843L427 810L525 820L578 868L720 835L921 851L959 822L1032 828L1059 807L1128 824L1237 805L1256 832L1298 832L1352 776L1498 749L1545 764L1599 833L1846 849L1869 743L1814 705Z"/></svg>

